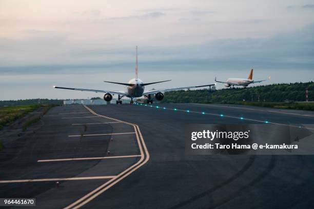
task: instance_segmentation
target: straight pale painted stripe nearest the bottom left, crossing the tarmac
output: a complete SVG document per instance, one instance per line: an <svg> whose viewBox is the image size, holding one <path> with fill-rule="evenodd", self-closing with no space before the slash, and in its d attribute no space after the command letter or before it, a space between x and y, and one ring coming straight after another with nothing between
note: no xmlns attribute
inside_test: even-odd
<svg viewBox="0 0 314 209"><path fill-rule="evenodd" d="M21 179L4 180L0 183L19 183L19 182L38 182L38 181L68 181L68 180L90 180L90 179L113 179L116 176L91 176L91 177L73 177L73 178L47 178L47 179Z"/></svg>

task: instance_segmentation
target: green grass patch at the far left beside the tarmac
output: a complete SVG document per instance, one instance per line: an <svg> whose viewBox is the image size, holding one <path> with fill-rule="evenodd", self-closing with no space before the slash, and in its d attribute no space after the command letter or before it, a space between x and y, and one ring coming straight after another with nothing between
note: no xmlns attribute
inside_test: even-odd
<svg viewBox="0 0 314 209"><path fill-rule="evenodd" d="M0 107L0 129L40 107L41 105Z"/></svg>

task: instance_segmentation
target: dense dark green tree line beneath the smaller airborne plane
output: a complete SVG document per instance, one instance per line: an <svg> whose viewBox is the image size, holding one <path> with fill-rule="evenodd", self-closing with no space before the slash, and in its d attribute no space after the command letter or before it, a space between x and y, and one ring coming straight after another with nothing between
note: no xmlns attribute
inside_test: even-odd
<svg viewBox="0 0 314 209"><path fill-rule="evenodd" d="M227 88L216 91L208 89L166 92L162 102L177 103L227 103L237 101L305 101L305 88L308 98L314 100L314 82L280 83L249 88Z"/></svg>

